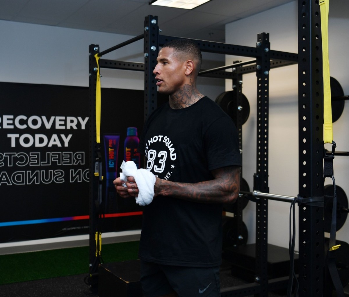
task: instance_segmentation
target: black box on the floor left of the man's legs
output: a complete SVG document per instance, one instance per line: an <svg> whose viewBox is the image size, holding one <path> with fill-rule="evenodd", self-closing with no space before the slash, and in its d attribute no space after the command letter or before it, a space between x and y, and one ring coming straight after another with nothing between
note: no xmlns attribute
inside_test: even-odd
<svg viewBox="0 0 349 297"><path fill-rule="evenodd" d="M99 297L141 297L140 260L113 262L99 265Z"/></svg>

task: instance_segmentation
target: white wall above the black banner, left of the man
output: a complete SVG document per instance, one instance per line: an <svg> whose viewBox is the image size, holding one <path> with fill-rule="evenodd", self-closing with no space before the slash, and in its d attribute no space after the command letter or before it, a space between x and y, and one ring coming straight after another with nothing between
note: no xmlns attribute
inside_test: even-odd
<svg viewBox="0 0 349 297"><path fill-rule="evenodd" d="M33 84L88 86L88 47L100 51L133 36L59 28L0 20L0 81ZM203 66L224 64L224 56L204 55ZM144 62L143 39L103 56L103 59ZM218 64L215 62L218 59ZM143 90L141 71L101 69L102 87ZM202 93L215 99L224 92L224 82L200 78Z"/></svg>

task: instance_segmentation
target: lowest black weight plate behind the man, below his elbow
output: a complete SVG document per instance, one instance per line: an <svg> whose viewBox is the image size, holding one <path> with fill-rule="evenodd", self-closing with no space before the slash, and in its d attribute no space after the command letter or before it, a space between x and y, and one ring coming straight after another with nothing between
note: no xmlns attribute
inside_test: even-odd
<svg viewBox="0 0 349 297"><path fill-rule="evenodd" d="M222 217L222 234L223 248L233 245L244 245L247 243L248 231L246 224L242 222L242 233L235 238L235 230L237 229L236 218L232 216Z"/></svg>

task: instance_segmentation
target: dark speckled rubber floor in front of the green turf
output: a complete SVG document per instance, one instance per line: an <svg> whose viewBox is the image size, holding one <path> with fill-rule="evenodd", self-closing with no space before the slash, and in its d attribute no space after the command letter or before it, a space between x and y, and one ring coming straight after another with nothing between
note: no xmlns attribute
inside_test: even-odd
<svg viewBox="0 0 349 297"><path fill-rule="evenodd" d="M83 297L98 296L84 282L86 274L56 277L52 279L35 280L0 286L1 297ZM221 287L227 288L245 283L231 276L230 267L221 267ZM117 296L117 292L116 295ZM269 292L269 297L286 297L286 291L277 294ZM111 296L112 297L112 296ZM120 297L120 296L119 296ZM253 297L248 296L248 297Z"/></svg>

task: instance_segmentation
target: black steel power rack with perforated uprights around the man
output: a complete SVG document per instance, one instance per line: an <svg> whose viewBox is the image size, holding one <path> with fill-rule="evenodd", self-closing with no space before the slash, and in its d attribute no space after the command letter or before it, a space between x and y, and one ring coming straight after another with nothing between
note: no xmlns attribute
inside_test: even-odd
<svg viewBox="0 0 349 297"><path fill-rule="evenodd" d="M298 51L299 55L289 52L270 50L269 34L257 36L256 47L238 46L206 40L193 40L202 52L219 53L250 57L255 60L236 63L230 66L203 70L199 75L232 79L234 104L242 103L241 82L243 74L255 72L257 75L257 165L254 174L254 191L268 193L268 112L269 112L269 71L276 67L297 64L299 68L299 195L301 197L324 196L322 184L322 45L320 7L318 0L298 1ZM316 17L315 17L316 16ZM157 87L153 75L159 47L167 41L180 37L159 34L157 16L148 15L144 20L144 33L124 43L99 52L99 45L89 46L89 89L90 89L90 280L98 274L98 189L100 178L94 176L95 163L101 158L95 142L95 96L97 63L95 54L103 56L120 47L144 39L144 63L115 60L99 60L100 68L144 71L144 118L157 107ZM233 68L232 72L223 71ZM242 145L242 116L236 111L236 125ZM263 127L263 131L259 128ZM304 127L306 129L304 129ZM240 147L241 148L241 147ZM307 153L304 154L304 151ZM320 153L319 153L320 152ZM259 156L263 156L260 159ZM304 166L306 162L307 166ZM237 206L237 233L242 228L242 208ZM324 290L324 228L323 207L302 205L299 211L299 296L323 296ZM320 222L320 223L319 223ZM268 280L267 277L267 237L268 237L268 199L256 202L256 278L254 283L224 288L221 296L268 296L268 290L284 288L288 277ZM97 249L97 251L96 251Z"/></svg>

